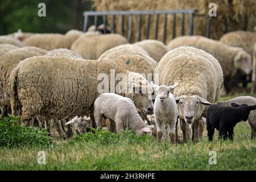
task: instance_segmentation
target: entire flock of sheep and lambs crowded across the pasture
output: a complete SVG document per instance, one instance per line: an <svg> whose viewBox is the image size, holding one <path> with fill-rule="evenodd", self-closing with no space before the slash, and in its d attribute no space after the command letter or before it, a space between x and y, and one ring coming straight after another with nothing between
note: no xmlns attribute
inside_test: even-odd
<svg viewBox="0 0 256 182"><path fill-rule="evenodd" d="M209 140L214 129L233 139L238 121L229 116L242 112L237 118L248 119L253 139L256 98L212 103L232 92L238 80L255 81L255 43L256 32L249 31L229 32L220 40L180 36L167 46L158 40L129 44L99 27L0 36L1 115L20 115L20 123L46 127L48 133L53 123L63 138L72 135L71 125L79 134L101 126L155 134L159 141L168 135L179 143L178 122L183 142L199 142L205 123Z"/></svg>

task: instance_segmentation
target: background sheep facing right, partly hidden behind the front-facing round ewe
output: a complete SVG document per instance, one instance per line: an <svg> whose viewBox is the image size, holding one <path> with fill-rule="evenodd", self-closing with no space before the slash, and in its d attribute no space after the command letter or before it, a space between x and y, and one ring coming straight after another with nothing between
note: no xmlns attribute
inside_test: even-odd
<svg viewBox="0 0 256 182"><path fill-rule="evenodd" d="M232 47L217 40L203 36L181 36L171 40L167 45L170 48L192 46L203 49L219 61L224 73L224 86L227 93L231 92L232 82L240 69L246 75L251 72L251 56L242 48Z"/></svg>

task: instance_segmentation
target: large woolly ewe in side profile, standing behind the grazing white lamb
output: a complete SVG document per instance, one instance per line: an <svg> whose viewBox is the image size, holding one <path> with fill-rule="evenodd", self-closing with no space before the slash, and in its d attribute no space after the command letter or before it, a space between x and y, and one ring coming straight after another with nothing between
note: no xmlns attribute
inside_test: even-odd
<svg viewBox="0 0 256 182"><path fill-rule="evenodd" d="M112 68L116 74L123 73L128 79L122 84L113 82L115 73ZM42 115L46 119L90 115L92 127L95 127L94 101L99 94L109 92L109 88L110 92L113 88L117 92L115 88L118 85L138 90L136 93L131 90L133 92L119 94L131 98L138 109L152 114L152 86L138 73L123 72L106 61L34 56L20 62L11 73L12 114L21 115L20 122L24 121L27 126L34 115Z"/></svg>

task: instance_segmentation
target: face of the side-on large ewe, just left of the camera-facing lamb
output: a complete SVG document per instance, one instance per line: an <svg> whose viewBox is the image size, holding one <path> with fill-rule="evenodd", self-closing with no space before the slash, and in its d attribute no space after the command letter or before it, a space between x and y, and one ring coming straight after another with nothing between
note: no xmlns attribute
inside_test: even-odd
<svg viewBox="0 0 256 182"><path fill-rule="evenodd" d="M154 92L151 86L135 85L133 87L133 102L135 106L146 114L153 114L154 104L151 94Z"/></svg>

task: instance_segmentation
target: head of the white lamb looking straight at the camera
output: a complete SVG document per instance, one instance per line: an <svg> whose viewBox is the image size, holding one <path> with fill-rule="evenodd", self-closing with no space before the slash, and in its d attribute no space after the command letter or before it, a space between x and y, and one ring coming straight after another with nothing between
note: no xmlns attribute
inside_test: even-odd
<svg viewBox="0 0 256 182"><path fill-rule="evenodd" d="M171 86L166 86L166 85L158 86L151 81L151 85L153 86L156 92L156 100L159 100L160 102L164 103L166 101L166 98L170 97L170 92L172 92L172 90L176 88L178 83L176 82L174 85L171 85Z"/></svg>

